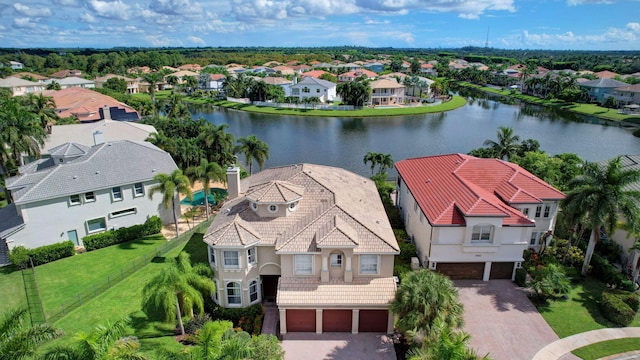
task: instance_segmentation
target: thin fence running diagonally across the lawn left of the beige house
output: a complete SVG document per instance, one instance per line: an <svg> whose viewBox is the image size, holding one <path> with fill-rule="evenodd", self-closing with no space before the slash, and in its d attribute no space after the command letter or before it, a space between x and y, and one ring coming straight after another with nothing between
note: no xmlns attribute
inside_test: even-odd
<svg viewBox="0 0 640 360"><path fill-rule="evenodd" d="M109 274L105 279L100 280L94 283L92 286L80 291L72 299L61 304L60 309L58 309L57 311L54 310L55 311L54 313L51 313L48 316L46 316L46 322L49 324L55 323L56 321L65 317L70 311L73 311L79 308L87 301L97 297L98 295L107 291L109 288L113 287L114 285L118 284L122 280L126 279L128 276L134 274L136 271L140 270L142 267L149 264L153 260L153 258L164 255L167 252L177 248L178 246L185 244L187 241L189 241L189 239L191 239L191 236L194 233L205 231L209 226L209 224L211 223L212 219L208 221L204 221L198 224L197 226L195 226L193 229L182 233L179 237L174 238L171 241L167 241L162 245L159 245L153 251L133 260L130 265L122 267L117 271L114 271L113 273ZM28 296L29 295L27 294L27 297Z"/></svg>

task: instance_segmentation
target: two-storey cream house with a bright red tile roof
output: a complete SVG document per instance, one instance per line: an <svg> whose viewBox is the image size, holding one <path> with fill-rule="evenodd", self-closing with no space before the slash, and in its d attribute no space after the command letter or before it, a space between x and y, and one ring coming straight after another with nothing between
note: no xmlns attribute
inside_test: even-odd
<svg viewBox="0 0 640 360"><path fill-rule="evenodd" d="M553 231L565 197L498 159L450 154L395 166L396 204L420 263L452 279L513 279L523 251Z"/></svg>

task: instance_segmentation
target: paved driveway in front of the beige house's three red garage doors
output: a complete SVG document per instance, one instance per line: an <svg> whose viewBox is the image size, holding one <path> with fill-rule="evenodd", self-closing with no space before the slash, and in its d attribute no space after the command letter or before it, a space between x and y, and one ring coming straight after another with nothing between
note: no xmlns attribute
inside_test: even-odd
<svg viewBox="0 0 640 360"><path fill-rule="evenodd" d="M290 333L281 345L285 360L396 360L393 342L383 334Z"/></svg>

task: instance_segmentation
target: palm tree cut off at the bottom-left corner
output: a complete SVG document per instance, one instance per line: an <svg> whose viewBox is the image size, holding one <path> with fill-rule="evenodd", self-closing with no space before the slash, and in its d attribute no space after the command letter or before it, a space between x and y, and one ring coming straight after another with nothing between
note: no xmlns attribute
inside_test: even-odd
<svg viewBox="0 0 640 360"><path fill-rule="evenodd" d="M63 335L47 324L26 326L27 316L25 308L11 310L3 316L0 322L0 359L31 359L41 344Z"/></svg>

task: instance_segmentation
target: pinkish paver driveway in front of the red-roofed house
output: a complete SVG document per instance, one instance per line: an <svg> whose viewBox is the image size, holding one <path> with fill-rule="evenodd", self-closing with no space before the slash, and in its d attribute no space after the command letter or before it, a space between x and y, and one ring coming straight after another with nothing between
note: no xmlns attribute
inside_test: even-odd
<svg viewBox="0 0 640 360"><path fill-rule="evenodd" d="M479 355L495 360L530 360L558 336L510 280L454 281L464 305L464 330ZM570 319L567 319L570 321ZM561 359L579 359L567 354Z"/></svg>

